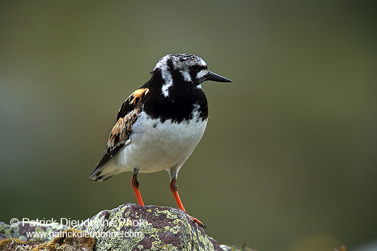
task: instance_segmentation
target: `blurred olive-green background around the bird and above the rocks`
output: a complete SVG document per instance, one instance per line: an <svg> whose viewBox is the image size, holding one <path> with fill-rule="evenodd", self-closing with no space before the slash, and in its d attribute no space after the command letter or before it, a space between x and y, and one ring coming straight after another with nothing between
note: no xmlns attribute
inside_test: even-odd
<svg viewBox="0 0 377 251"><path fill-rule="evenodd" d="M219 243L352 250L377 238L374 1L1 1L0 221L84 220L136 202L130 172L88 181L124 99L167 53L204 83L210 120L180 172ZM166 172L146 204L176 207Z"/></svg>

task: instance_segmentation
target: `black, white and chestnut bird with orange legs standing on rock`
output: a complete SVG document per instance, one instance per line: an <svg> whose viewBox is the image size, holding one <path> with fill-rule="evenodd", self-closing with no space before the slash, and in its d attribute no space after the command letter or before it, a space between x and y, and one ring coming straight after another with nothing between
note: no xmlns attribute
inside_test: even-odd
<svg viewBox="0 0 377 251"><path fill-rule="evenodd" d="M151 79L121 105L104 156L89 179L105 181L121 172L132 172L132 189L138 204L144 206L138 173L167 170L171 192L178 207L187 213L176 180L206 129L204 81L232 82L208 70L197 55L177 53L162 57L152 70Z"/></svg>

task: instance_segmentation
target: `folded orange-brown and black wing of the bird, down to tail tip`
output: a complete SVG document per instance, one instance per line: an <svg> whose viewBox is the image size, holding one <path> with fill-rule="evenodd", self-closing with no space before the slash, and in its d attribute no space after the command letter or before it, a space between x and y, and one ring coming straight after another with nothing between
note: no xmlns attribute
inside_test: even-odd
<svg viewBox="0 0 377 251"><path fill-rule="evenodd" d="M117 123L112 127L104 156L97 163L94 172L90 175L90 180L104 180L101 176L101 168L130 140L132 126L141 114L143 103L148 93L148 88L140 88L124 101L121 109L119 109ZM106 177L106 179L108 178L110 176Z"/></svg>

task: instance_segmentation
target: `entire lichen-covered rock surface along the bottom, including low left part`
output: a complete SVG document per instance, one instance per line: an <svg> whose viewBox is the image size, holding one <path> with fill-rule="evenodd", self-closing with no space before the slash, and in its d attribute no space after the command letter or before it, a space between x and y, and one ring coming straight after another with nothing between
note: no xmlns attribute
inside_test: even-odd
<svg viewBox="0 0 377 251"><path fill-rule="evenodd" d="M9 226L1 222L0 250L241 250L219 245L189 215L171 207L123 204L97 213L74 229L67 228L58 224L31 226L29 222L22 227ZM31 238L28 231L44 231L47 235Z"/></svg>

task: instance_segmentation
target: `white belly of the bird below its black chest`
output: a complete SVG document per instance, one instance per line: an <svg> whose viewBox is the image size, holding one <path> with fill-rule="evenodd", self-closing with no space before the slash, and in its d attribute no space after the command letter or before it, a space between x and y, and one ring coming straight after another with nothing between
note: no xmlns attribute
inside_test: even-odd
<svg viewBox="0 0 377 251"><path fill-rule="evenodd" d="M195 111L192 120L178 124L165 120L151 119L144 112L132 127L130 143L126 144L110 159L106 166L113 166L119 172L157 172L180 163L193 153L206 129L207 120L202 121Z"/></svg>

